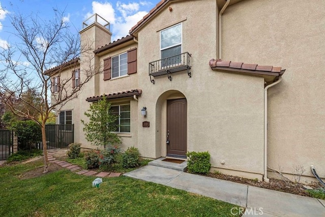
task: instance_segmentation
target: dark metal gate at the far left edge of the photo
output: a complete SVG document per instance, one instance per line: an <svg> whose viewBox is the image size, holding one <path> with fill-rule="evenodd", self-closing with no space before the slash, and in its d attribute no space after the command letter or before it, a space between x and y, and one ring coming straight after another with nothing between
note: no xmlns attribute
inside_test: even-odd
<svg viewBox="0 0 325 217"><path fill-rule="evenodd" d="M0 160L6 160L13 153L13 137L10 130L0 130Z"/></svg>

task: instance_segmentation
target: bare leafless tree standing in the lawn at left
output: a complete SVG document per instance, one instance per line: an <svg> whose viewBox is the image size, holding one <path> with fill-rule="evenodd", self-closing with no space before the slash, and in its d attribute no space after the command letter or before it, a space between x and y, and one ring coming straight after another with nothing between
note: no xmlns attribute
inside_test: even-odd
<svg viewBox="0 0 325 217"><path fill-rule="evenodd" d="M83 85L98 72L92 64L91 44L81 46L79 34L72 33L64 21L64 12L54 9L51 20L43 20L38 15L9 16L18 43L0 51L0 61L5 66L0 69L0 100L14 114L41 126L45 173L48 171L45 124L49 114L76 98ZM74 71L79 68L81 55L87 57L84 59L89 65L85 64L87 68L80 71L75 86ZM61 77L55 90L51 82L54 75ZM12 102L19 102L19 106Z"/></svg>

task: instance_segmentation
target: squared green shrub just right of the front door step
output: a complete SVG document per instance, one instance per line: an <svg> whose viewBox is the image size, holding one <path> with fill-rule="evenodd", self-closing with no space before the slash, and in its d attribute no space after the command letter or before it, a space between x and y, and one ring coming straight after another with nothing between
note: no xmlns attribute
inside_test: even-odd
<svg viewBox="0 0 325 217"><path fill-rule="evenodd" d="M208 151L205 152L196 152L191 151L187 152L187 170L190 173L203 173L207 174L210 171L210 154Z"/></svg>

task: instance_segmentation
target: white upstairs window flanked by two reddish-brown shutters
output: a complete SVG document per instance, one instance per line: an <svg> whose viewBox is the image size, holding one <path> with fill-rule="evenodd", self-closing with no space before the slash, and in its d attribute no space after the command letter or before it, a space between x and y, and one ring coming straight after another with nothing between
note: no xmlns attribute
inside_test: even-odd
<svg viewBox="0 0 325 217"><path fill-rule="evenodd" d="M104 59L104 80L137 73L137 48Z"/></svg>

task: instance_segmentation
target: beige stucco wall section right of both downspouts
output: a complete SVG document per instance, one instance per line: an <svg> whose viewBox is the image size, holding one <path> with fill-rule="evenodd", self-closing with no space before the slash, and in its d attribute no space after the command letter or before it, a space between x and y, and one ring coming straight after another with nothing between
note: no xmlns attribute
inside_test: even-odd
<svg viewBox="0 0 325 217"><path fill-rule="evenodd" d="M268 166L283 173L312 176L313 164L325 177L324 11L324 1L250 0L223 15L222 59L286 69L268 94Z"/></svg>

